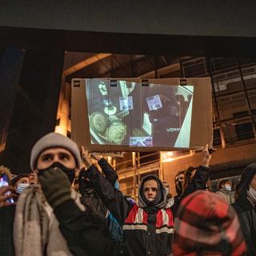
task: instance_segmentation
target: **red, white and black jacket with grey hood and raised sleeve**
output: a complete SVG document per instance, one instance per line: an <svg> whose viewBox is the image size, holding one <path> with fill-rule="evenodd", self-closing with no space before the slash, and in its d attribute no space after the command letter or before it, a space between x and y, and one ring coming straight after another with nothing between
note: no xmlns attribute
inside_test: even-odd
<svg viewBox="0 0 256 256"><path fill-rule="evenodd" d="M166 190L155 175L146 176L139 188L138 205L131 204L122 192L115 190L102 176L96 166L90 166L90 182L110 212L122 225L127 243L126 255L166 256L171 254L173 215L166 206ZM147 202L143 185L154 179L158 183L158 194L153 202Z"/></svg>

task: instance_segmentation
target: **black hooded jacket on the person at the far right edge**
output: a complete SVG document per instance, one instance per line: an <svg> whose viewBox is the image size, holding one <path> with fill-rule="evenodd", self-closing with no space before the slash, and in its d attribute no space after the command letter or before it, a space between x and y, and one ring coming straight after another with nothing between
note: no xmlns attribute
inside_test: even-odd
<svg viewBox="0 0 256 256"><path fill-rule="evenodd" d="M256 255L256 208L247 199L247 190L250 189L250 182L255 174L256 163L243 170L241 182L238 185L238 198L233 204L246 240L247 255L251 256Z"/></svg>

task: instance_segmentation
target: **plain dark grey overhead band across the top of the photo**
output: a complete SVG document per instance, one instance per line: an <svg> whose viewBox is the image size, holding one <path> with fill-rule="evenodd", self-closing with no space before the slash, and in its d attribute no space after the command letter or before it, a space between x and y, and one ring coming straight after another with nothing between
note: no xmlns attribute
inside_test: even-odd
<svg viewBox="0 0 256 256"><path fill-rule="evenodd" d="M247 4L246 4L247 2ZM107 33L255 37L250 1L1 1L0 26Z"/></svg>

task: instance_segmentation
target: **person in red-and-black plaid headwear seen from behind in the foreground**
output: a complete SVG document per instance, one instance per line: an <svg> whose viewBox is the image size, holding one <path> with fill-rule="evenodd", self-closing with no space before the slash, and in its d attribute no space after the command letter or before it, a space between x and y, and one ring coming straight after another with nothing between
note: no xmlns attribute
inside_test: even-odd
<svg viewBox="0 0 256 256"><path fill-rule="evenodd" d="M246 255L238 216L217 194L198 190L188 195L174 223L174 256Z"/></svg>

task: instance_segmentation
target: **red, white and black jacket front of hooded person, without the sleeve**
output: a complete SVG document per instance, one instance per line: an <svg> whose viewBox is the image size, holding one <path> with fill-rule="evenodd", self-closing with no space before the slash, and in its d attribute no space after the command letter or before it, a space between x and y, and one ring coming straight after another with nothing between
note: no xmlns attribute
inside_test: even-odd
<svg viewBox="0 0 256 256"><path fill-rule="evenodd" d="M155 222L149 222L143 208L134 205L126 218L122 230L129 242L129 255L169 255L171 253L174 219L170 209L159 209ZM131 248L132 247L132 248Z"/></svg>

